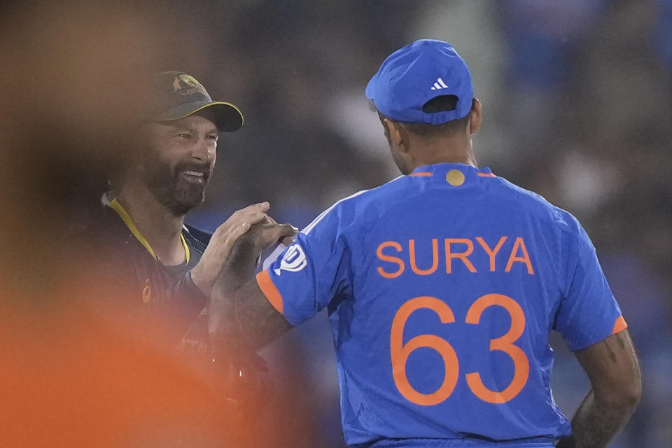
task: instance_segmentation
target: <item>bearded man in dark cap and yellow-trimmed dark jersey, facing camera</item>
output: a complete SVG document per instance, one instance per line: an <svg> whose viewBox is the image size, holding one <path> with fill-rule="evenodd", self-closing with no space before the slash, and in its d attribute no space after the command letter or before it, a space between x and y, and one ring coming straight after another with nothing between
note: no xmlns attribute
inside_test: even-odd
<svg viewBox="0 0 672 448"><path fill-rule="evenodd" d="M186 73L156 73L149 84L136 151L112 176L95 225L103 267L96 281L106 296L99 304L114 325L153 349L179 348L212 363L208 297L237 237L269 220L269 204L236 211L213 234L186 225L186 214L204 201L220 133L239 130L243 116ZM295 233L279 227L283 236ZM256 377L259 361L254 353L224 360L220 379Z"/></svg>

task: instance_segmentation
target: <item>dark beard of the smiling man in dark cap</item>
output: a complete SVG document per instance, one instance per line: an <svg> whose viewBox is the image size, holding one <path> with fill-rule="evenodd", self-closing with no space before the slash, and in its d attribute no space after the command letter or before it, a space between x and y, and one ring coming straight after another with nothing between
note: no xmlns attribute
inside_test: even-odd
<svg viewBox="0 0 672 448"><path fill-rule="evenodd" d="M165 160L148 153L144 158L143 181L163 207L175 216L183 216L203 203L210 176L209 164L180 162L172 169ZM203 172L203 183L183 179L180 173L186 170Z"/></svg>

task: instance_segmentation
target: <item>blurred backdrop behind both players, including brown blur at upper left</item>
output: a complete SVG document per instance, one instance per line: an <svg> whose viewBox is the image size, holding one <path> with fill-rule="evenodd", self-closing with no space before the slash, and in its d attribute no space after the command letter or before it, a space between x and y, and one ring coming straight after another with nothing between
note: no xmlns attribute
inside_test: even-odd
<svg viewBox="0 0 672 448"><path fill-rule="evenodd" d="M13 62L0 68L5 310L66 307L53 241L132 150L123 130L142 73L187 71L246 117L221 139L190 223L213 230L268 200L278 221L302 227L398 175L364 87L392 50L440 38L468 62L483 104L479 164L582 221L629 322L643 400L610 446L672 442L672 1L8 2L0 14L0 54ZM589 385L554 348L554 395L571 415ZM343 447L326 316L263 353L291 391L285 437Z"/></svg>

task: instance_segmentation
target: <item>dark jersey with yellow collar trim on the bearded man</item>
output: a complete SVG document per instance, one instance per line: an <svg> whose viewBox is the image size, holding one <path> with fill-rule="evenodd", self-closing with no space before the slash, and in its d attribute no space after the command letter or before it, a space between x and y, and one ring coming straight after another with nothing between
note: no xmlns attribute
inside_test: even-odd
<svg viewBox="0 0 672 448"><path fill-rule="evenodd" d="M190 225L182 230L186 262L163 265L154 255L121 204L104 201L93 227L95 258L100 269L94 281L97 308L127 337L140 339L152 351L181 353L201 372L214 374L218 386L237 406L258 409L267 391L265 362L250 351L232 351L212 363L208 335L208 297L193 283L197 265L212 236ZM226 373L225 372L229 372ZM234 372L233 378L227 378Z"/></svg>

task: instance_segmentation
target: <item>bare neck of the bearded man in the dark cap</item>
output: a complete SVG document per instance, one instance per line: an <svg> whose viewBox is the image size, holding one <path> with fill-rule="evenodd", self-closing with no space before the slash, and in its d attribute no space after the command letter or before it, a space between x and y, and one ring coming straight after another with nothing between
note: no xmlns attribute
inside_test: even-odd
<svg viewBox="0 0 672 448"><path fill-rule="evenodd" d="M185 262L181 239L184 216L175 216L144 186L123 188L116 199L131 216L160 262L164 265Z"/></svg>

